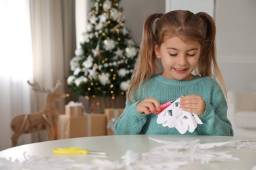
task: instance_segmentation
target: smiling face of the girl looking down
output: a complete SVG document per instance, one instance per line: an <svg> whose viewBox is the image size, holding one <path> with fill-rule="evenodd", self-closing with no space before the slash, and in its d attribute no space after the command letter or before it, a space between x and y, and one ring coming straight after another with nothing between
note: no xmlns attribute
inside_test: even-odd
<svg viewBox="0 0 256 170"><path fill-rule="evenodd" d="M179 37L165 39L155 53L163 65L162 76L175 80L192 80L192 71L198 65L201 45L198 41L184 42Z"/></svg>

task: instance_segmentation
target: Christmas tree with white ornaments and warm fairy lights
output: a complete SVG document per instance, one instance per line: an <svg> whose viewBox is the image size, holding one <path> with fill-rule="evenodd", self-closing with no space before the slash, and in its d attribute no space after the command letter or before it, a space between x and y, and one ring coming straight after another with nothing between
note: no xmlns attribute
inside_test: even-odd
<svg viewBox="0 0 256 170"><path fill-rule="evenodd" d="M125 95L139 46L131 40L120 0L93 0L81 48L70 61L68 87L76 96Z"/></svg>

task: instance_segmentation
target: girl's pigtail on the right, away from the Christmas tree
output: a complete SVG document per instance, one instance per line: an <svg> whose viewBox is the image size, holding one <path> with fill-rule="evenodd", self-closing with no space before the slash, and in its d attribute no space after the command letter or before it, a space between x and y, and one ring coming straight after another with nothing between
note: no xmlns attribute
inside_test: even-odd
<svg viewBox="0 0 256 170"><path fill-rule="evenodd" d="M226 95L226 88L224 84L224 78L221 74L221 70L217 64L216 58L216 48L215 48L215 35L216 35L216 26L215 21L209 14L205 12L199 12L197 14L201 20L204 22L205 27L205 41L203 42L203 50L202 57L200 58L200 74L202 76L217 76L217 80L221 83L221 87L223 88L223 92ZM211 66L213 64L215 73L212 73Z"/></svg>

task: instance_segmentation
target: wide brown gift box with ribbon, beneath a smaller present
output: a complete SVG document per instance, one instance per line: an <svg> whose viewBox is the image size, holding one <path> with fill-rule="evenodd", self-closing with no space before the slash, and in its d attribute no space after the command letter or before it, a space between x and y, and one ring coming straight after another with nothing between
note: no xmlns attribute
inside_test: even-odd
<svg viewBox="0 0 256 170"><path fill-rule="evenodd" d="M106 135L106 115L58 116L58 139Z"/></svg>

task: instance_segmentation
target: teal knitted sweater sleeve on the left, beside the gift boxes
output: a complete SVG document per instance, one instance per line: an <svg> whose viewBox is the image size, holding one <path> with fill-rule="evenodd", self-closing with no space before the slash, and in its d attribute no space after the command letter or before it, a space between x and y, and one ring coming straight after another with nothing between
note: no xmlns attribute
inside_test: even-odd
<svg viewBox="0 0 256 170"><path fill-rule="evenodd" d="M116 120L114 131L116 135L137 135L142 133L142 127L146 123L146 114L139 114L136 105L139 103L131 104L126 100L126 107L123 113Z"/></svg>

